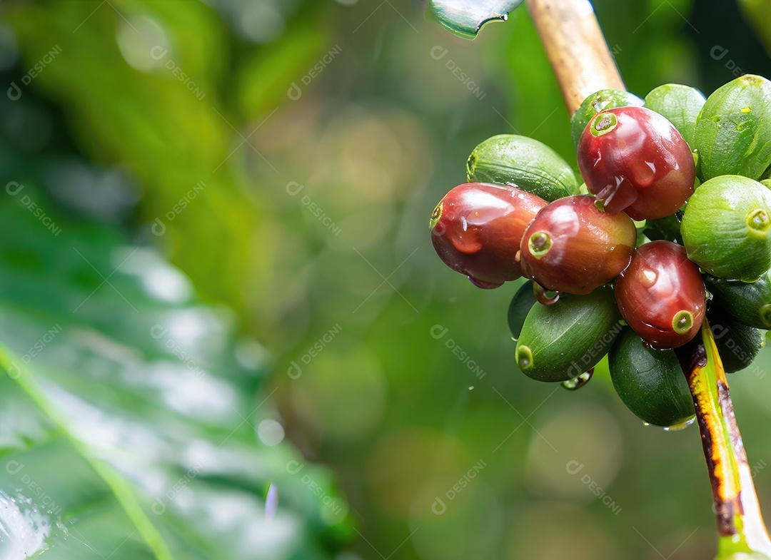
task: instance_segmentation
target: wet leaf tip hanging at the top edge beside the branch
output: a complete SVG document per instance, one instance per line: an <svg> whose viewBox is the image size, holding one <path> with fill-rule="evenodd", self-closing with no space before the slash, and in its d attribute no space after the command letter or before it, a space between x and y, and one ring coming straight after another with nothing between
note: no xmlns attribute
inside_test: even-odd
<svg viewBox="0 0 771 560"><path fill-rule="evenodd" d="M522 0L429 0L429 10L447 31L474 39L487 22L506 21Z"/></svg>

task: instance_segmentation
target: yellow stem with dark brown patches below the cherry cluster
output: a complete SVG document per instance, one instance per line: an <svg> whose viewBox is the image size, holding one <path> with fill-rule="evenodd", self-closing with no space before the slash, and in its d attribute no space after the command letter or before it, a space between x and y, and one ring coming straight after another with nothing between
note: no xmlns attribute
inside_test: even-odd
<svg viewBox="0 0 771 560"><path fill-rule="evenodd" d="M678 350L678 357L691 388L712 483L719 532L717 558L771 559L771 538L736 424L726 371L707 320L700 338Z"/></svg>

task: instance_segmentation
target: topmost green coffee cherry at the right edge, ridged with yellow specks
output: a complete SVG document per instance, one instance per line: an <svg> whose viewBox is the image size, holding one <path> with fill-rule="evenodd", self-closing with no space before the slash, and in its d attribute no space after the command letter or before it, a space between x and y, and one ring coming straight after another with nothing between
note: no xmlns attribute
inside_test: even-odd
<svg viewBox="0 0 771 560"><path fill-rule="evenodd" d="M760 179L771 166L771 82L746 74L716 89L696 122L700 177Z"/></svg>

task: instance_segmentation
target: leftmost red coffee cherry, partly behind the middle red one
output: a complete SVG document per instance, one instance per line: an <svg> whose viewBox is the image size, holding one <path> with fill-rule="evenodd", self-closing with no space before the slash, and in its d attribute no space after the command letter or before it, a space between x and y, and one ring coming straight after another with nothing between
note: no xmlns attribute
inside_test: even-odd
<svg viewBox="0 0 771 560"><path fill-rule="evenodd" d="M516 260L522 234L546 201L511 186L466 183L436 205L431 240L444 263L480 288L522 276Z"/></svg>

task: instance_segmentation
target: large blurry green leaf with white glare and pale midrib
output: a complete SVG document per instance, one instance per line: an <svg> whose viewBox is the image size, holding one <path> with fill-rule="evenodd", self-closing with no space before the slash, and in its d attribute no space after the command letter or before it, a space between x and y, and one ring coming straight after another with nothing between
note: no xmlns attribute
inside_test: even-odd
<svg viewBox="0 0 771 560"><path fill-rule="evenodd" d="M329 558L347 509L326 471L258 437L264 359L230 310L32 186L0 233L0 557Z"/></svg>

